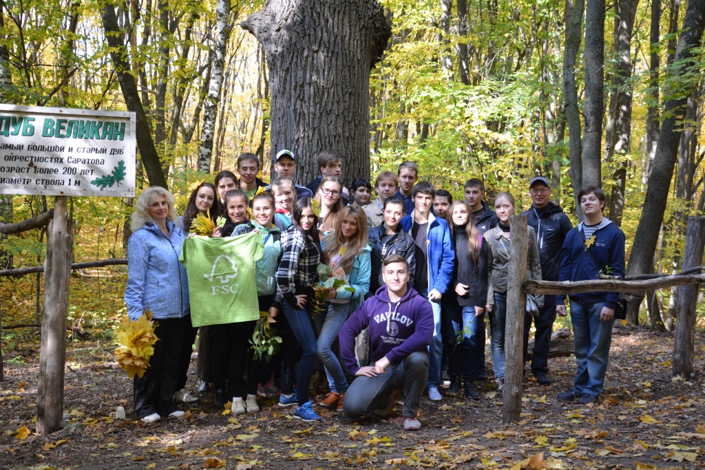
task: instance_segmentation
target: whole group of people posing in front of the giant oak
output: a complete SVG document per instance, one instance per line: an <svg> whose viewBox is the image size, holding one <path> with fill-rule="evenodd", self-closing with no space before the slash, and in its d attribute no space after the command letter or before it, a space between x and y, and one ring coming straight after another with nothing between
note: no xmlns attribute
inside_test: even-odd
<svg viewBox="0 0 705 470"><path fill-rule="evenodd" d="M295 418L316 421L309 383L322 366L330 392L319 406L350 417L388 416L402 392L403 426L418 429L424 391L442 400L443 384L446 393L463 390L479 400L475 382L488 378L486 316L492 371L503 392L513 195L500 192L491 207L482 180L472 178L465 197L453 200L405 161L396 173L377 175L372 199L367 180L343 186L334 151L319 154L320 175L307 186L294 183L296 164L293 152L279 151L278 178L266 185L257 178L257 156L242 154L240 178L221 171L214 184L200 183L179 217L167 190L140 194L125 303L133 320L152 311L160 340L144 376L135 377L137 416L180 416L177 402L198 400L185 384L199 328L199 391L213 383L214 404L230 400L235 414L259 411L263 395L295 405ZM528 279L623 276L625 237L603 217L599 188L580 191L584 221L575 228L550 201L548 180L534 178L528 189ZM199 214L226 221L211 237L194 237ZM321 276L341 287L323 288L321 298ZM613 293L570 295L577 376L561 400L590 403L601 394L618 300ZM539 295L536 303L525 314L523 355L526 364L533 323L531 370L537 383L549 385L553 322L568 311L565 296ZM282 338L269 361L255 359L250 347L260 312Z"/></svg>

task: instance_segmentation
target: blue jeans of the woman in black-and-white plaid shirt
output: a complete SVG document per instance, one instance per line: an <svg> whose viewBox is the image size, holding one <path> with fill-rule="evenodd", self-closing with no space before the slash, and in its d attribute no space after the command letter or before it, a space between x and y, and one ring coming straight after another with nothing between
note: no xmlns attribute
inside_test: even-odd
<svg viewBox="0 0 705 470"><path fill-rule="evenodd" d="M284 316L298 343L301 345L301 359L296 370L296 401L299 406L309 401L308 388L311 383L313 361L318 351L316 335L305 309L295 309L284 302Z"/></svg>

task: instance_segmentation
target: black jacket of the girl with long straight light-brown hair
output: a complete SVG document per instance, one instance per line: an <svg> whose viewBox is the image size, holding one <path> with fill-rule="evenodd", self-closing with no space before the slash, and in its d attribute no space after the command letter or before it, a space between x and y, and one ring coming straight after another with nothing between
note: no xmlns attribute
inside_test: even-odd
<svg viewBox="0 0 705 470"><path fill-rule="evenodd" d="M477 264L472 260L467 249L467 233L465 227L453 225L453 246L455 247L455 268L453 282L450 288L455 291L458 283L467 285L467 294L458 295L452 292L460 307L482 307L487 303L487 240L482 240L482 246L477 256Z"/></svg>

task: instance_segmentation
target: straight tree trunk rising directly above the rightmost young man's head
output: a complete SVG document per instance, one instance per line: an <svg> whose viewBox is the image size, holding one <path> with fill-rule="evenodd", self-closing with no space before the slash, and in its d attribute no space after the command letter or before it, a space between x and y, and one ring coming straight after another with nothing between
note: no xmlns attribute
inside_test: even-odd
<svg viewBox="0 0 705 470"><path fill-rule="evenodd" d="M585 8L585 130L582 135L582 185L602 186L604 113L605 0L587 0Z"/></svg>

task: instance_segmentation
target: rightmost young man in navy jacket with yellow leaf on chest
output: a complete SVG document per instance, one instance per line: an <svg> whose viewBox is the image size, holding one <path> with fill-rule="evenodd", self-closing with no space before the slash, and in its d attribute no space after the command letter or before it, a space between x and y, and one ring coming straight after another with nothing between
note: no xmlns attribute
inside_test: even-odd
<svg viewBox="0 0 705 470"><path fill-rule="evenodd" d="M560 281L598 279L599 273L624 276L625 236L602 215L605 193L586 186L577 195L585 220L572 228L560 250ZM612 342L617 292L570 295L570 321L575 342L577 375L573 387L558 398L580 404L594 403L602 393ZM567 316L565 295L556 296L556 313Z"/></svg>

